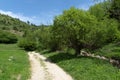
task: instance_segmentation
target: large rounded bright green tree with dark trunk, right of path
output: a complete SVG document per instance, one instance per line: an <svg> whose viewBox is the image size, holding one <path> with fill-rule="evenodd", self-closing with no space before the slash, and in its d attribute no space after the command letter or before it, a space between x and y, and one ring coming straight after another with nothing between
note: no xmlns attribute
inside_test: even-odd
<svg viewBox="0 0 120 80"><path fill-rule="evenodd" d="M55 17L52 33L60 46L73 48L79 55L83 48L93 49L103 44L104 35L98 23L97 18L89 12L72 7Z"/></svg>

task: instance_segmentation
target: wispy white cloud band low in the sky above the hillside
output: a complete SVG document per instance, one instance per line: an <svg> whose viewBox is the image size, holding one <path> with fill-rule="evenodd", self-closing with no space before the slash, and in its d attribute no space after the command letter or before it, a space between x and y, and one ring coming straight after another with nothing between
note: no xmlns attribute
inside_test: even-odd
<svg viewBox="0 0 120 80"><path fill-rule="evenodd" d="M31 22L33 24L36 25L40 25L40 24L52 24L53 23L53 19L55 15L58 15L59 13L56 11L51 11L51 12L47 12L47 13L40 13L39 16L24 16L22 13L13 13L11 11L4 11L4 10L0 10L1 14L5 14L5 15L9 15L13 18L18 18L21 21L24 22Z"/></svg>

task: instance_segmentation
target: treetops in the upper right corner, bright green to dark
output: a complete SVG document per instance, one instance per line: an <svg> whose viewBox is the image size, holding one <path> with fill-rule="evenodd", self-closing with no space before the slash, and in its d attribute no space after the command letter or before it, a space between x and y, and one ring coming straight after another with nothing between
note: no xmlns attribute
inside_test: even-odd
<svg viewBox="0 0 120 80"><path fill-rule="evenodd" d="M100 0L95 1L99 2ZM109 16L120 21L120 0L104 0L90 7L89 11L96 17L107 15L107 17Z"/></svg>

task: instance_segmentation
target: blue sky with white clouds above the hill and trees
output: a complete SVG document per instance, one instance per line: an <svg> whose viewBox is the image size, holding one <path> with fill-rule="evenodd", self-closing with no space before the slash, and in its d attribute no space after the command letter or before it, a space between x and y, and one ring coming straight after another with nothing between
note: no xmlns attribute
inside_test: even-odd
<svg viewBox="0 0 120 80"><path fill-rule="evenodd" d="M70 7L88 10L94 0L0 0L0 13L33 24L52 24Z"/></svg>

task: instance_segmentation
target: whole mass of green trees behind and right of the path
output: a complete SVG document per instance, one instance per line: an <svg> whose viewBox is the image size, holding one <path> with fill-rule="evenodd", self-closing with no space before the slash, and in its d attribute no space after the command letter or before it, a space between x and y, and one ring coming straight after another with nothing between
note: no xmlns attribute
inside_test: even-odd
<svg viewBox="0 0 120 80"><path fill-rule="evenodd" d="M111 6L109 1L105 1L91 6L88 11L71 7L56 16L53 25L27 30L24 37L32 37L38 50L72 48L78 55L81 49L102 48L120 39L119 22L110 17Z"/></svg>

